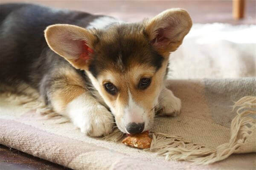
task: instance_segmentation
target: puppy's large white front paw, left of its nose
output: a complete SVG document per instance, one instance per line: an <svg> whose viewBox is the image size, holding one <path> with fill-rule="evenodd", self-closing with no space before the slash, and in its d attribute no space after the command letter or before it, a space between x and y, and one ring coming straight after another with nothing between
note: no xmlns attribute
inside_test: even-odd
<svg viewBox="0 0 256 170"><path fill-rule="evenodd" d="M112 132L113 115L102 105L84 108L74 116L74 124L89 136L106 136Z"/></svg>

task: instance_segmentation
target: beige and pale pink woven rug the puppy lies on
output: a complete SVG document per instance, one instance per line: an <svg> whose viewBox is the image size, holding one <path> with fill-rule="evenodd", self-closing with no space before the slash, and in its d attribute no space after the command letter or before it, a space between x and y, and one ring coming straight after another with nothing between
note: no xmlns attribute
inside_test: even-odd
<svg viewBox="0 0 256 170"><path fill-rule="evenodd" d="M175 169L174 162L165 158L204 164L232 153L256 151L253 117L239 114L230 128L231 121L237 118L232 101L256 93L254 78L173 80L169 88L182 100L183 108L180 116L155 120L152 150L85 136L40 102L10 93L1 95L0 143L73 169ZM251 111L255 113L255 97L246 101L247 105L244 101L237 105L254 106ZM247 166L253 168L254 162L251 160ZM188 165L181 164L183 168Z"/></svg>

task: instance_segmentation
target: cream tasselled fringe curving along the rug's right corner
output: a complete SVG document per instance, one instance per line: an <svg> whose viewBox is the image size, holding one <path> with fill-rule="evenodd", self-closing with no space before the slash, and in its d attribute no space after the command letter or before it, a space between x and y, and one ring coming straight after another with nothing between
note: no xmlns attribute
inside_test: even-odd
<svg viewBox="0 0 256 170"><path fill-rule="evenodd" d="M256 97L242 97L235 102L233 110L236 107L240 108L231 122L231 137L228 143L221 144L216 149L209 149L198 144L183 142L175 136L172 138L169 134L153 133L150 150L157 150L158 155L165 156L168 160L187 160L194 164L211 164L226 159L236 153L250 135L248 124L255 123L255 119L248 115L256 114Z"/></svg>

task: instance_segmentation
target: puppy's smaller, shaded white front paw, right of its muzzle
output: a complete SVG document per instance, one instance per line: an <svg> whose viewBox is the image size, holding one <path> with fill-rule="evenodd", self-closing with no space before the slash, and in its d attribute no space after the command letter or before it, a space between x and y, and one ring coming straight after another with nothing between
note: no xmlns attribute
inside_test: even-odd
<svg viewBox="0 0 256 170"><path fill-rule="evenodd" d="M181 101L174 96L172 91L164 88L159 96L160 107L163 108L163 114L168 116L177 116L180 114Z"/></svg>

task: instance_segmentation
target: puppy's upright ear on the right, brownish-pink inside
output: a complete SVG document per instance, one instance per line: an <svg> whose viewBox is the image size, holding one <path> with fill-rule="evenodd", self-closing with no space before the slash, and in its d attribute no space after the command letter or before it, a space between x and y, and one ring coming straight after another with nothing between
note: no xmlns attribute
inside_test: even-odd
<svg viewBox="0 0 256 170"><path fill-rule="evenodd" d="M155 50L167 57L180 46L191 26L192 20L187 11L172 8L149 20L145 32Z"/></svg>

